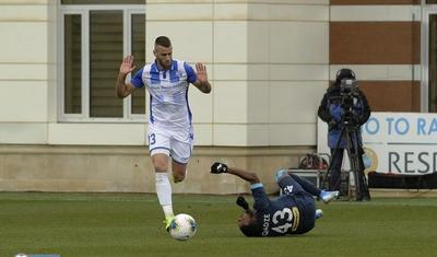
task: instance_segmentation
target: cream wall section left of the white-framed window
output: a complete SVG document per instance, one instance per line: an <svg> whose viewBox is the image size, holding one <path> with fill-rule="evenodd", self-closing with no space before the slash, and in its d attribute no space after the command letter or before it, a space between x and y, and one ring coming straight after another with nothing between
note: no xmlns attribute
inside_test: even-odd
<svg viewBox="0 0 437 257"><path fill-rule="evenodd" d="M0 4L0 142L45 144L56 120L55 4Z"/></svg>

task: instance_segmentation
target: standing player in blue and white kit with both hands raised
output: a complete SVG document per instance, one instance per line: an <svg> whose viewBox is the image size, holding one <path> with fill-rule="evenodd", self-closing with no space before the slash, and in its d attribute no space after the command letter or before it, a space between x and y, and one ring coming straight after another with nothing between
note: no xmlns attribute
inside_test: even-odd
<svg viewBox="0 0 437 257"><path fill-rule="evenodd" d="M133 56L123 58L117 79L117 96L123 98L138 87L149 90L149 151L155 170L156 194L168 231L174 218L172 186L167 177L169 160L174 182L182 182L193 147L189 84L205 94L211 92L211 84L203 63L197 63L194 71L187 62L173 59L173 46L168 37L155 39L153 54L155 61L140 69L130 83L126 83L126 77L135 69Z"/></svg>

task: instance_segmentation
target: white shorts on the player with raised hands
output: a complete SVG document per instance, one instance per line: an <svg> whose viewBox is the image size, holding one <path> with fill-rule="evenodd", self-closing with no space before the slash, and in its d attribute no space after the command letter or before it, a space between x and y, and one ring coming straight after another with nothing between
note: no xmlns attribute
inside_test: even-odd
<svg viewBox="0 0 437 257"><path fill-rule="evenodd" d="M194 141L192 126L187 130L175 131L150 125L147 138L151 156L164 153L177 163L188 163Z"/></svg>

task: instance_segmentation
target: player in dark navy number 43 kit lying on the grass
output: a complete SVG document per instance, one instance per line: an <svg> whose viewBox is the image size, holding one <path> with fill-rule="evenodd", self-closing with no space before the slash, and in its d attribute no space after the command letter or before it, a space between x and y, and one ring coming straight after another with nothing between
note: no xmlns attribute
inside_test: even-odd
<svg viewBox="0 0 437 257"><path fill-rule="evenodd" d="M253 210L243 197L237 205L245 209L238 219L238 226L246 236L282 236L304 234L315 227L316 219L323 212L316 210L314 197L324 203L339 196L339 191L318 189L309 180L281 170L275 179L281 188L281 196L270 200L257 174L236 167L227 167L224 163L214 163L211 173L228 173L250 183L253 196Z"/></svg>

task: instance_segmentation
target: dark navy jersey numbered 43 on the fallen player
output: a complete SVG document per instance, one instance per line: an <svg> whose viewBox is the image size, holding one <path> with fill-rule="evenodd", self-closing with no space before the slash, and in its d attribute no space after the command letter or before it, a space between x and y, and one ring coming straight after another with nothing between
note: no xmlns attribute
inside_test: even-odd
<svg viewBox="0 0 437 257"><path fill-rule="evenodd" d="M309 194L282 195L270 200L261 184L251 190L260 236L302 234L315 226L316 207Z"/></svg>

